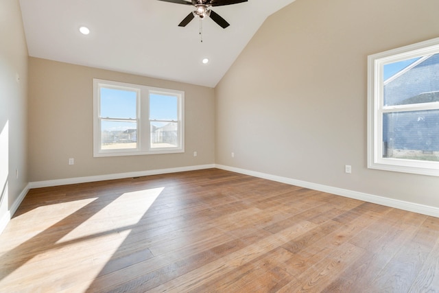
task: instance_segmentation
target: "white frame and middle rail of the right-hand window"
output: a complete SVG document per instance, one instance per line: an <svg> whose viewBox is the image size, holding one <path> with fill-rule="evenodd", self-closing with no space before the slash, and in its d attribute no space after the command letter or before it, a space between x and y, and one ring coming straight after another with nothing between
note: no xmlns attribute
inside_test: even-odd
<svg viewBox="0 0 439 293"><path fill-rule="evenodd" d="M439 162L383 158L383 113L439 109L439 103L385 106L383 66L410 58L439 53L439 38L368 56L368 168L439 176Z"/></svg>

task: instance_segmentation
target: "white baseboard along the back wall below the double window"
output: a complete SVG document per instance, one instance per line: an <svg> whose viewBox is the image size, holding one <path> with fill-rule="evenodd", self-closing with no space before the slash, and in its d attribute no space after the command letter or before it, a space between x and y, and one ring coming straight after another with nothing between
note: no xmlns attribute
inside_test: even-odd
<svg viewBox="0 0 439 293"><path fill-rule="evenodd" d="M168 174L168 173L176 173L176 172L194 171L194 170L209 169L209 168L214 168L214 167L215 167L215 164L195 165L195 166L187 166L187 167L168 168L168 169L156 169L156 170L149 170L149 171L107 174L107 175L98 175L98 176L86 176L86 177L66 178L66 179L57 179L57 180L47 180L47 181L36 181L36 182L29 183L29 186L30 186L30 188L51 187L51 186L59 186L59 185L69 185L69 184L77 184L77 183L88 183L88 182L95 182L95 181L130 178L130 177L140 177L140 176L150 176L150 175Z"/></svg>

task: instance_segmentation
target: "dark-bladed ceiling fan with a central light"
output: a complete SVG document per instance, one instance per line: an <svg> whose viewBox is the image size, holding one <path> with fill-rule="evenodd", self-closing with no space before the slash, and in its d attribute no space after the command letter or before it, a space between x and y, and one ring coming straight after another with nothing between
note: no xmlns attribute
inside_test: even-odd
<svg viewBox="0 0 439 293"><path fill-rule="evenodd" d="M191 22L192 19L195 18L195 16L198 16L200 19L204 19L204 17L210 16L211 19L215 21L215 23L217 23L220 27L225 29L230 24L221 16L219 16L219 14L217 14L215 11L211 10L211 7L237 4L237 3L247 2L248 0L192 0L192 1L158 0L158 1L195 6L195 10L189 13L185 17L185 19L182 20L182 22L178 25L179 27L185 27L188 23Z"/></svg>

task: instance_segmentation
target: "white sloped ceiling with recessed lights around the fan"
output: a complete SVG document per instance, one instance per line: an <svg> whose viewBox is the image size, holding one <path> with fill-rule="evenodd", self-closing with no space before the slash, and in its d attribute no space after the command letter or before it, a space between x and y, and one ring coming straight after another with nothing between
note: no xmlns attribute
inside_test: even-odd
<svg viewBox="0 0 439 293"><path fill-rule="evenodd" d="M213 10L230 26L193 19L193 6L156 0L20 0L29 56L215 87L270 14L294 0ZM91 30L87 36L79 27ZM203 58L209 58L207 65Z"/></svg>

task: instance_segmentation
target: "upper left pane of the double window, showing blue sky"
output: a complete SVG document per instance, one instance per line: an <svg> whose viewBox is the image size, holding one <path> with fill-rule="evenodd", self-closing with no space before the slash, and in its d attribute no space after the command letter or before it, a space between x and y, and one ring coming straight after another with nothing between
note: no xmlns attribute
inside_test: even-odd
<svg viewBox="0 0 439 293"><path fill-rule="evenodd" d="M101 88L101 117L136 119L137 92Z"/></svg>

